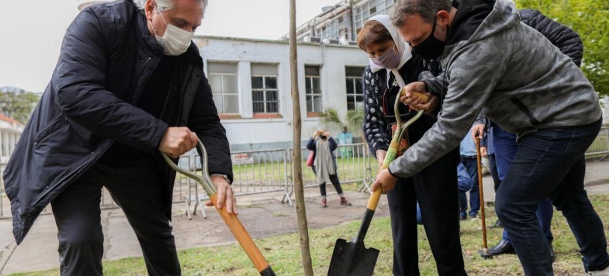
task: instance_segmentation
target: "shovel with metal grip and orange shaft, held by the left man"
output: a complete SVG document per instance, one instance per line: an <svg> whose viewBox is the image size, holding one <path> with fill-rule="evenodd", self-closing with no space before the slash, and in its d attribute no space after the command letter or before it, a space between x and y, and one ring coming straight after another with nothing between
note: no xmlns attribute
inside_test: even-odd
<svg viewBox="0 0 609 276"><path fill-rule="evenodd" d="M167 161L167 164L169 164L169 166L174 170L178 171L178 173L184 174L185 176L188 176L189 178L192 178L195 181L199 182L199 184L203 186L203 189L209 196L211 202L213 202L214 206L217 206L218 193L216 191L216 187L214 187L211 182L211 179L209 178L209 172L207 168L207 151L205 150L205 146L203 146L203 143L201 143L201 141L199 141L199 144L197 146L201 150L203 163L201 168L203 177L178 167L177 165L175 165L174 161L171 160L171 158L169 158L169 156L164 153L163 157ZM256 270L258 270L260 275L276 276L275 272L273 272L273 269L269 266L269 263L267 263L264 256L262 256L260 249L258 249L258 246L256 246L256 244L252 240L252 236L247 233L247 230L245 230L245 227L243 227L243 224L241 224L241 221L239 221L237 216L234 214L229 214L227 212L226 207L222 207L222 209L218 209L216 207L216 210L218 211L220 216L222 216L222 219L224 219L224 223L226 223L231 232L233 232L234 237L237 241L239 241L241 247L243 247L243 250L245 251L245 254L247 254L247 257L252 260L252 263L254 264L254 266L256 266Z"/></svg>

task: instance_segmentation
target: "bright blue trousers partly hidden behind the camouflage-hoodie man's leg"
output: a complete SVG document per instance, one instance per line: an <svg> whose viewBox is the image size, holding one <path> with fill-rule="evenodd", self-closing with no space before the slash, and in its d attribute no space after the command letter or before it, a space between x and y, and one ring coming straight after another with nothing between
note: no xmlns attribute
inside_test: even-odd
<svg viewBox="0 0 609 276"><path fill-rule="evenodd" d="M505 178L505 174L507 174L507 171L512 164L516 151L518 151L518 143L516 143L516 134L508 133L497 125L493 126L492 135L495 146L497 174L501 181ZM498 190L498 188L495 190ZM543 233L546 236L547 242L552 243L552 241L554 241L551 229L552 217L554 216L552 201L549 198L541 201L537 206L535 215L537 216L541 230L543 230ZM507 243L512 243L510 241L510 236L505 229L503 230L503 240Z"/></svg>

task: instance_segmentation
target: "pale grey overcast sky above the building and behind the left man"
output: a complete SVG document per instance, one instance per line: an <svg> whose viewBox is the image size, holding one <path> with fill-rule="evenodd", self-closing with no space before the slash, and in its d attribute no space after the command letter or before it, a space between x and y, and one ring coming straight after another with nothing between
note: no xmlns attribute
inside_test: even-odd
<svg viewBox="0 0 609 276"><path fill-rule="evenodd" d="M1 0L0 87L43 92L63 35L78 14L76 0ZM297 25L339 0L297 0ZM287 0L209 0L197 35L276 39L289 31Z"/></svg>

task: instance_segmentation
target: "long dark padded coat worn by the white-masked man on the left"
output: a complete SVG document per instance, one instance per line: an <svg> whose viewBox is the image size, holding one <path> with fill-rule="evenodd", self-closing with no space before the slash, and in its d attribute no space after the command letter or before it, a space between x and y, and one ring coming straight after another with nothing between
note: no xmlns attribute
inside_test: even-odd
<svg viewBox="0 0 609 276"><path fill-rule="evenodd" d="M230 151L203 61L194 44L180 56L177 100L156 119L134 105L163 57L144 13L130 0L93 5L69 26L51 82L4 171L13 234L23 241L40 212L114 142L155 156L171 215L175 171L157 150L168 126L188 126L206 145L210 173L232 179Z"/></svg>

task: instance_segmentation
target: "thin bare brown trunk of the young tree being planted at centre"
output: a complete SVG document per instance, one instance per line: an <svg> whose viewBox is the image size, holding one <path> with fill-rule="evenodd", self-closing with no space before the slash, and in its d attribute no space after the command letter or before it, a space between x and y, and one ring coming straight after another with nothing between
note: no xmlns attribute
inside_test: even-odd
<svg viewBox="0 0 609 276"><path fill-rule="evenodd" d="M300 119L300 93L298 92L298 55L296 47L296 0L290 0L290 80L292 81L292 109L294 110L294 126L292 164L294 165L294 191L296 196L296 214L298 216L298 232L300 232L300 257L303 262L305 276L313 276L311 250L309 249L309 224L306 220L305 190L303 186L302 159L300 153L300 137L302 122Z"/></svg>

